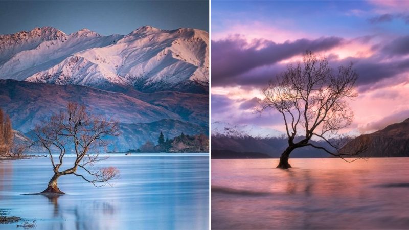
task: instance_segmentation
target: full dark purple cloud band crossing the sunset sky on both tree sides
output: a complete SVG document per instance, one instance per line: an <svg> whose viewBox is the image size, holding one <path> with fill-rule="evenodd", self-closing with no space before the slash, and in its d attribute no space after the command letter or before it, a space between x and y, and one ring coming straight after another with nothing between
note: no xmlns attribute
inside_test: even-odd
<svg viewBox="0 0 409 230"><path fill-rule="evenodd" d="M352 40L366 43L372 38L373 36L363 36ZM331 49L329 44L331 42L322 42L323 40L324 38L313 40L314 47L320 47L318 44L321 44L321 47ZM342 38L337 40L342 43L351 42L351 40ZM311 40L308 41L311 43ZM300 48L302 47L300 44L308 43L306 39L283 44L264 40L258 41L257 47L261 45L263 48L257 49L240 37L212 42L212 85L240 85L257 88L265 87L269 80L285 71L286 64L277 63L278 61L302 54L305 47ZM332 44L336 44L336 42ZM409 80L407 77L397 78L398 75L409 71L409 58L401 58L409 54L409 35L395 38L389 42L378 43L373 46L372 50L375 55L368 58L349 57L338 60L336 55L331 54L327 58L335 71L339 65L345 66L350 62L354 63L353 67L359 75L357 80L359 91L372 90L382 85L399 84ZM394 57L400 58L391 59Z"/></svg>

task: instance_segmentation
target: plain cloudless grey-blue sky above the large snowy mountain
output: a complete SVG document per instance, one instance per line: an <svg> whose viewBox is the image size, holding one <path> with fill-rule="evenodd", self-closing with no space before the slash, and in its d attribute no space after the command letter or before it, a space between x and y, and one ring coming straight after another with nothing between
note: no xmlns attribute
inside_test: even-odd
<svg viewBox="0 0 409 230"><path fill-rule="evenodd" d="M209 31L209 1L0 1L0 34L51 26L125 35L145 25Z"/></svg>

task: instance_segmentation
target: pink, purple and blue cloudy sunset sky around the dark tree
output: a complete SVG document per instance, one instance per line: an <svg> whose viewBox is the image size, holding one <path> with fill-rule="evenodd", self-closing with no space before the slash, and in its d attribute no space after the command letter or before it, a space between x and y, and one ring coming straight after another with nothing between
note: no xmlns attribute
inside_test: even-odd
<svg viewBox="0 0 409 230"><path fill-rule="evenodd" d="M306 50L331 66L354 63L359 96L344 133L409 118L409 1L212 1L212 122L284 131L254 107L269 80Z"/></svg>

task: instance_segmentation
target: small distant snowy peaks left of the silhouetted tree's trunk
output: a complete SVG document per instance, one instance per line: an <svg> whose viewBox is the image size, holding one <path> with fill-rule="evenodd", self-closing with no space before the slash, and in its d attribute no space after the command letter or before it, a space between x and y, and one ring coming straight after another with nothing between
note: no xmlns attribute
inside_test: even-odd
<svg viewBox="0 0 409 230"><path fill-rule="evenodd" d="M245 137L251 136L254 138L270 138L281 137L284 133L276 129L259 127L256 125L232 125L226 122L213 122L212 135Z"/></svg>

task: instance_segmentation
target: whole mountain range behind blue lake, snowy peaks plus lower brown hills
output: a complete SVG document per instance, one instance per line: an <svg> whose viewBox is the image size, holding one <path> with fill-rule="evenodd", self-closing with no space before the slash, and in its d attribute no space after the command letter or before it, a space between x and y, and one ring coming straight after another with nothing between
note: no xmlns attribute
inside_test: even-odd
<svg viewBox="0 0 409 230"><path fill-rule="evenodd" d="M28 135L78 102L119 122L116 151L155 143L161 131L208 135L208 45L206 31L151 26L127 35L52 27L0 35L0 107Z"/></svg>

